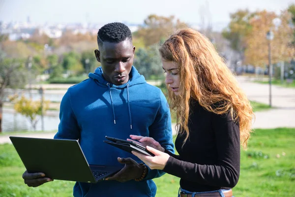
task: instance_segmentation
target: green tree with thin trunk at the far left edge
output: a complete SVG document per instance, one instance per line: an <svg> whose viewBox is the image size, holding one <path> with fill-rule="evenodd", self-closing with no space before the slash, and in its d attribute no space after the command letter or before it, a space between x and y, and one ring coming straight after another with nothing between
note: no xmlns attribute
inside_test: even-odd
<svg viewBox="0 0 295 197"><path fill-rule="evenodd" d="M27 84L27 71L24 62L17 59L4 58L0 50L0 132L2 131L2 107L5 99L5 88L21 88Z"/></svg>

